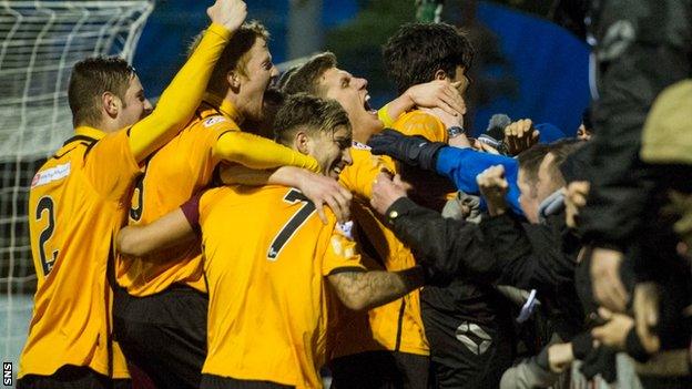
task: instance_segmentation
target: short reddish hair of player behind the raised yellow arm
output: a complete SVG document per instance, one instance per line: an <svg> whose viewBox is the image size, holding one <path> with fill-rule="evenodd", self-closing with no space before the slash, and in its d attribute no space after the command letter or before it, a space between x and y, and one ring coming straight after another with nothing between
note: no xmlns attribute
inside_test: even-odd
<svg viewBox="0 0 692 389"><path fill-rule="evenodd" d="M189 55L191 55L197 48L202 41L203 34L204 32L200 33L194 39L187 51ZM241 25L241 28L233 33L231 40L221 53L221 57L216 62L216 66L214 66L214 71L212 72L212 76L208 82L208 90L216 91L218 93L225 92L228 88L226 75L231 71L237 71L243 75L247 75L245 73L248 60L247 53L257 39L268 41L269 31L267 31L267 29L256 20L243 23L243 25Z"/></svg>

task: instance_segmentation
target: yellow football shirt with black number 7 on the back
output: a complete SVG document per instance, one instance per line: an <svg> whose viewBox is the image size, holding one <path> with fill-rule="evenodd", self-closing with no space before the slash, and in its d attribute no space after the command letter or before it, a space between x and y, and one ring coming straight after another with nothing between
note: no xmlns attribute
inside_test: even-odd
<svg viewBox="0 0 692 389"><path fill-rule="evenodd" d="M224 186L200 199L210 287L203 373L320 388L326 276L363 270L355 243L297 190Z"/></svg>

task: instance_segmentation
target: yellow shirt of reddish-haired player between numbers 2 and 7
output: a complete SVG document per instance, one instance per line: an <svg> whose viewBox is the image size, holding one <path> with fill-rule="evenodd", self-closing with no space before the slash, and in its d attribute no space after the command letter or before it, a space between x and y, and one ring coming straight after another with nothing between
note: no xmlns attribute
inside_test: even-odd
<svg viewBox="0 0 692 389"><path fill-rule="evenodd" d="M248 143L242 153L252 154L252 160L260 164L256 167L278 167L291 161L296 164L304 162L305 158L294 158L294 154L298 153L288 147L256 135L240 133L236 123L241 120L230 102L207 94L187 126L146 164L132 196L130 224L150 224L206 187L221 162L214 156L214 146L222 135L231 135L227 132L237 135L234 142ZM144 258L120 256L116 277L129 294L147 296L174 283L184 283L206 293L202 274L200 245L183 244Z"/></svg>

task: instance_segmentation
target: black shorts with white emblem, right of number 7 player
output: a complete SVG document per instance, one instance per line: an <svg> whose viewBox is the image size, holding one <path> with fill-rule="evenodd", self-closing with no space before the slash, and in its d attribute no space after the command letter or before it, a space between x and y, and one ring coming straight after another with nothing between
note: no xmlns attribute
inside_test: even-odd
<svg viewBox="0 0 692 389"><path fill-rule="evenodd" d="M430 345L430 380L436 388L497 388L513 360L509 323L477 324L424 303L423 323Z"/></svg>

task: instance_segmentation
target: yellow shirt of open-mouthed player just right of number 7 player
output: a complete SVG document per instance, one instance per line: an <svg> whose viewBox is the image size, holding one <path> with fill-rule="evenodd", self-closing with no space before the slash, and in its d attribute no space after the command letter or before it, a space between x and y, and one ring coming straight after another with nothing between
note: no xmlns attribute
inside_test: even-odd
<svg viewBox="0 0 692 389"><path fill-rule="evenodd" d="M350 152L353 165L340 174L340 183L352 191L352 212L357 223L357 242L368 269L403 270L416 266L410 249L383 223L370 206L373 181L380 171L396 173L394 161L387 156L373 155L369 147L354 142ZM367 240L367 242L365 242ZM372 247L368 253L365 247ZM368 319L364 319L367 315ZM338 330L332 358L370 350L391 350L429 355L420 318L419 291L414 290L400 299L370 309L367 314L344 311L339 314Z"/></svg>

